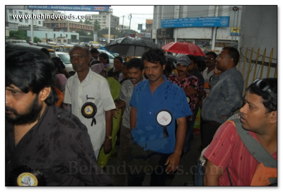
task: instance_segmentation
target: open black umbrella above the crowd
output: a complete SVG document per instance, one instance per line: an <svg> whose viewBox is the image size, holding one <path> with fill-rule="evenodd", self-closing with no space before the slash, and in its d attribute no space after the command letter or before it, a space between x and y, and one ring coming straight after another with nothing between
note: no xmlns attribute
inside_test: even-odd
<svg viewBox="0 0 283 192"><path fill-rule="evenodd" d="M107 44L105 48L109 52L111 51L125 56L142 56L149 48L161 49L157 44L151 41L133 37L118 38Z"/></svg>

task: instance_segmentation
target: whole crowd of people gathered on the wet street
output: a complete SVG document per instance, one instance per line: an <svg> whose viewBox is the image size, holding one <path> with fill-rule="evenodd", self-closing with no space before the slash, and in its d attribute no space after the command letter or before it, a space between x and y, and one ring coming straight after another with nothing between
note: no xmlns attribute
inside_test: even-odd
<svg viewBox="0 0 283 192"><path fill-rule="evenodd" d="M256 79L243 98L237 49L179 54L175 64L160 49L127 62L117 56L114 66L96 48L75 45L69 55L73 76L40 51L6 55L7 186L141 186L148 169L150 186L165 186L190 151L199 109L198 184L277 182L277 79ZM118 184L105 171L114 158L126 169ZM262 163L269 183L255 178Z"/></svg>

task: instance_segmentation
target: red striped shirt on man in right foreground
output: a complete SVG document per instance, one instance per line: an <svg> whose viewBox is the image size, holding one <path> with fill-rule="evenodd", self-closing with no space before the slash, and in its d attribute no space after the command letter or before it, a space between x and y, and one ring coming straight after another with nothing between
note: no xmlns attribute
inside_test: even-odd
<svg viewBox="0 0 283 192"><path fill-rule="evenodd" d="M249 131L249 134L258 141L254 132ZM219 178L221 186L230 185L226 167L228 167L233 186L249 186L259 164L249 153L235 126L230 122L223 124L217 130L204 156L214 165L224 169L224 173ZM277 160L277 151L272 154L272 157Z"/></svg>

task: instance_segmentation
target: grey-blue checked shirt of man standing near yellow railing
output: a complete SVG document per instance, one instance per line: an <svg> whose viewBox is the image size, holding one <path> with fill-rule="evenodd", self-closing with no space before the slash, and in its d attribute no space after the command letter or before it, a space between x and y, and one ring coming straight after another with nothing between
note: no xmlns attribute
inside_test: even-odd
<svg viewBox="0 0 283 192"><path fill-rule="evenodd" d="M224 123L242 105L243 84L242 74L236 67L213 76L210 94L203 100L203 119Z"/></svg>

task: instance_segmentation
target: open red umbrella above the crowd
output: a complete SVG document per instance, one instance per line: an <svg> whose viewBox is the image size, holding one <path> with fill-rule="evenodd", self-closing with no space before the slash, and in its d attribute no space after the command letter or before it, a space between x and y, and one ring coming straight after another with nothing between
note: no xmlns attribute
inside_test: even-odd
<svg viewBox="0 0 283 192"><path fill-rule="evenodd" d="M201 48L192 43L185 42L171 42L162 47L164 51L173 53L182 53L186 55L205 56Z"/></svg>

